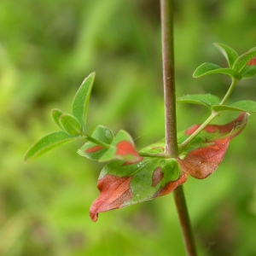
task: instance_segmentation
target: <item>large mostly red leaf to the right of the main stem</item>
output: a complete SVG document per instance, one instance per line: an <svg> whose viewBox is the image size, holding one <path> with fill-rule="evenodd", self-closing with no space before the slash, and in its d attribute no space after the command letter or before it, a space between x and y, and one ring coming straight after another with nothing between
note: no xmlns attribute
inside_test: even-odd
<svg viewBox="0 0 256 256"><path fill-rule="evenodd" d="M178 158L183 172L195 178L206 178L214 172L224 158L230 140L236 137L247 125L247 113L226 125L207 125L195 139L185 148ZM200 125L186 131L191 135Z"/></svg>

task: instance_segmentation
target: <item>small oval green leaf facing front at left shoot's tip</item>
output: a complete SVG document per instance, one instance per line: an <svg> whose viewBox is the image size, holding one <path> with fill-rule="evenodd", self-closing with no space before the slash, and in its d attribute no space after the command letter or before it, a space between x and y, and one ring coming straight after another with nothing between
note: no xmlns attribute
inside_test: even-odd
<svg viewBox="0 0 256 256"><path fill-rule="evenodd" d="M79 120L74 118L73 115L69 113L62 113L59 118L59 123L63 131L67 132L69 135L82 135L82 127Z"/></svg>

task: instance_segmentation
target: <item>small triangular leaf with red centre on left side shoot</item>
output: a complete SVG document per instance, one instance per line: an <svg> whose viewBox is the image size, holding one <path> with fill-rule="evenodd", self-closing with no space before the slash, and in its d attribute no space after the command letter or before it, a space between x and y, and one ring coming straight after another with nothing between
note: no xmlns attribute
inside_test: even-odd
<svg viewBox="0 0 256 256"><path fill-rule="evenodd" d="M124 160L137 162L140 159L141 156L137 153L130 134L124 130L120 130L113 139L108 151L102 155L99 161Z"/></svg>

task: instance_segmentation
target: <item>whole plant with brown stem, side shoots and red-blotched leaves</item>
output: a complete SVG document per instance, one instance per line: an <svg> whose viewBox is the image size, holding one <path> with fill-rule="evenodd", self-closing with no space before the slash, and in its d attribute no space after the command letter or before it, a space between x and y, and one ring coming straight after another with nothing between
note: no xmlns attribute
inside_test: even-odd
<svg viewBox="0 0 256 256"><path fill-rule="evenodd" d="M229 67L203 63L196 68L194 78L222 73L231 79L230 88L220 99L210 94L186 95L177 102L200 104L210 110L209 117L201 124L184 132L176 131L176 98L173 60L172 1L160 0L163 73L166 107L166 138L137 150L129 133L120 130L115 136L105 126L98 125L88 134L86 115L90 91L96 73L91 73L81 84L73 98L72 113L51 111L51 117L61 131L54 131L34 143L25 154L29 161L62 143L84 140L78 153L90 160L108 162L100 173L97 187L100 195L90 207L90 218L96 221L99 212L130 206L154 199L174 191L177 212L183 230L183 240L189 256L196 255L195 243L189 224L189 214L181 184L188 175L203 179L214 172L224 158L230 140L247 125L247 113L256 112L256 102L227 103L230 94L241 79L256 74L256 48L243 55L225 44L214 44L228 61ZM236 111L240 115L226 125L210 125L224 111Z"/></svg>

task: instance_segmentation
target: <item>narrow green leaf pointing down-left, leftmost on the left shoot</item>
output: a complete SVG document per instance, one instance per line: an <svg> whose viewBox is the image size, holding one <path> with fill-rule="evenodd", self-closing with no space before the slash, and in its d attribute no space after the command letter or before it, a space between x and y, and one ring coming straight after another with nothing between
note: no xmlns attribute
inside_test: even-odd
<svg viewBox="0 0 256 256"><path fill-rule="evenodd" d="M44 154L51 148L78 139L79 137L72 137L67 135L63 131L55 131L42 137L38 142L32 144L31 148L28 148L24 156L24 160L30 161L40 154Z"/></svg>

